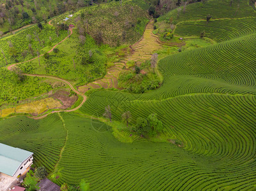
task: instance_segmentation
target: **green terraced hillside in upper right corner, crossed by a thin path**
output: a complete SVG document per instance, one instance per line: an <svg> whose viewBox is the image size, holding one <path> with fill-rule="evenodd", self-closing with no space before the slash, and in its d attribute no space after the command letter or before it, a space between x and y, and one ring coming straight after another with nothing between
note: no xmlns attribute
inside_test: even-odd
<svg viewBox="0 0 256 191"><path fill-rule="evenodd" d="M209 22L207 15L211 15ZM200 36L204 31L204 37L219 43L255 33L256 12L248 1L206 1L177 8L158 18L159 22L170 20L176 25L176 36Z"/></svg>

